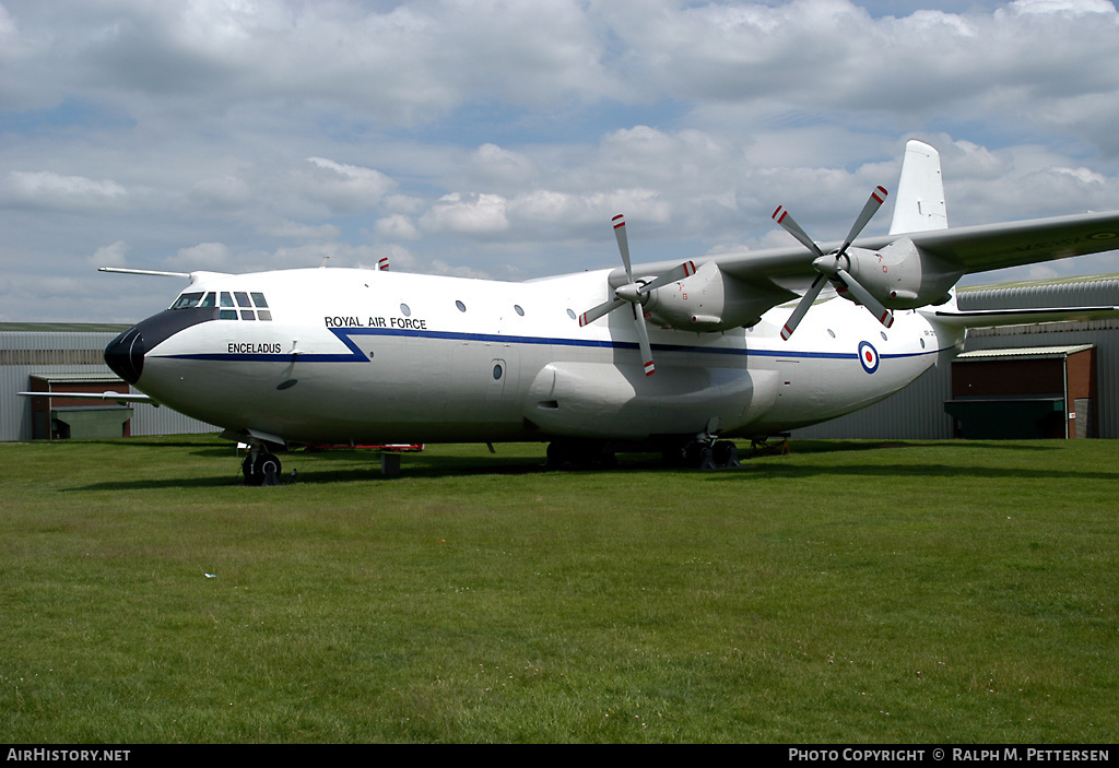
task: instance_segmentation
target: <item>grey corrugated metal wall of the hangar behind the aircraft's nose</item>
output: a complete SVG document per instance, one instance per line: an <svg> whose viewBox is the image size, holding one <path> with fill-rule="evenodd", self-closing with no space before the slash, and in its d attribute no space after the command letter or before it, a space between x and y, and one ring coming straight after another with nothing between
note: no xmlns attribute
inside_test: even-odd
<svg viewBox="0 0 1119 768"><path fill-rule="evenodd" d="M32 324L20 325L23 329ZM0 330L0 440L31 439L31 400L16 392L28 390L32 373L112 373L102 352L125 330L83 330L82 325L56 330ZM135 392L134 388L129 391ZM217 428L167 407L137 405L133 435L180 435L216 432Z"/></svg>

